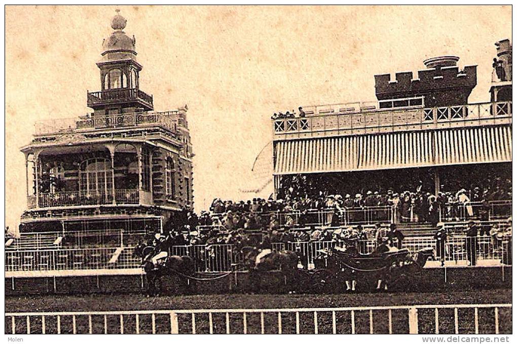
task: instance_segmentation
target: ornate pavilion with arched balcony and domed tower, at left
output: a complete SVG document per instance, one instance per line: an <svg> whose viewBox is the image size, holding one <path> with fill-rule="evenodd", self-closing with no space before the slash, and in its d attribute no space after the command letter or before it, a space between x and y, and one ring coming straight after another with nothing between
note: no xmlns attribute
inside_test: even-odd
<svg viewBox="0 0 517 344"><path fill-rule="evenodd" d="M117 11L118 12L118 11ZM155 112L140 89L135 39L116 14L103 41L93 113L36 124L26 159L28 209L21 231L158 229L192 207L187 106Z"/></svg>

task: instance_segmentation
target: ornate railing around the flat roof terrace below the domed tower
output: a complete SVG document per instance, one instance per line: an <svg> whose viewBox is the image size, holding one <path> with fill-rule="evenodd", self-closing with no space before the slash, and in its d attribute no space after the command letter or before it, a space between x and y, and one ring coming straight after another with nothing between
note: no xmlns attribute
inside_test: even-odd
<svg viewBox="0 0 517 344"><path fill-rule="evenodd" d="M110 115L86 115L36 122L36 135L49 135L105 128L145 127L159 125L175 132L178 123L178 111L141 112Z"/></svg>

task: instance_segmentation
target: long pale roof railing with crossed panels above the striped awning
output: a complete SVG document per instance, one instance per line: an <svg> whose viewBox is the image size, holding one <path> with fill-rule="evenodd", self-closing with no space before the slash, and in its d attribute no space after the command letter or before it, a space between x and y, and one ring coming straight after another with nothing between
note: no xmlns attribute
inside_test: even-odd
<svg viewBox="0 0 517 344"><path fill-rule="evenodd" d="M373 105L371 108L366 106L346 108L339 107L340 104L325 106L328 107L327 110L320 106L315 108L316 112L311 111L314 115L308 116L306 112L306 117L273 119L274 134L296 134L295 136L304 137L312 133L364 134L469 127L480 124L511 123L512 116L512 102L430 108L418 105L390 108Z"/></svg>

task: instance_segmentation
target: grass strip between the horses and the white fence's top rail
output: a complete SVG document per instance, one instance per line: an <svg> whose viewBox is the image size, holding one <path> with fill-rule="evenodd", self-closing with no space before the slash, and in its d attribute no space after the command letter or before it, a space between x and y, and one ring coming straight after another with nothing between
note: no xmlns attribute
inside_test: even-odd
<svg viewBox="0 0 517 344"><path fill-rule="evenodd" d="M324 295L214 294L157 296L151 298L141 294L31 295L7 296L5 299L5 311L300 308L511 302L511 289Z"/></svg>

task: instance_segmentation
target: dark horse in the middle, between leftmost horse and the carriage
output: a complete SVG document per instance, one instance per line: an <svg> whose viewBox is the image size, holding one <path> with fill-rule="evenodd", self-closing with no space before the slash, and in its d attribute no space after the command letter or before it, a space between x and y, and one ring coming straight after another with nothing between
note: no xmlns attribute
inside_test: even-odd
<svg viewBox="0 0 517 344"><path fill-rule="evenodd" d="M292 284L296 282L298 271L298 255L292 251L260 250L256 247L244 247L241 249L244 255L244 263L250 273L252 290L260 291L262 273L267 271L279 271L284 278L284 284L289 291L293 291ZM276 288L276 290L279 290Z"/></svg>

